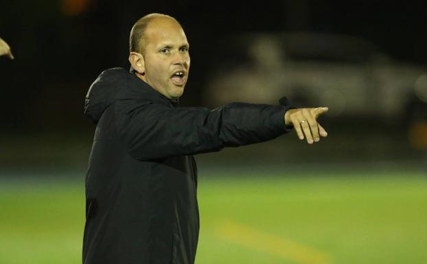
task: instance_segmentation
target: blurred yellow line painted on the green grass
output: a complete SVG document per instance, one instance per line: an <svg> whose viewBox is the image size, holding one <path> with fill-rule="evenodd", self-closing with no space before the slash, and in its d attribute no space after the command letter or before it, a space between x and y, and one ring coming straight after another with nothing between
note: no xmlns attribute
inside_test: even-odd
<svg viewBox="0 0 427 264"><path fill-rule="evenodd" d="M254 230L235 221L219 221L216 232L221 239L297 263L332 264L331 257L321 250L267 232Z"/></svg>

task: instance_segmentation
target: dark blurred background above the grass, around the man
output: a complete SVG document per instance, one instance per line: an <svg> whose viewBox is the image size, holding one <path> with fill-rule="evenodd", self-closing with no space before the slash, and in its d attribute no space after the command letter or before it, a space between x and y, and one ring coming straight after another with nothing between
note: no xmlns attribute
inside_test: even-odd
<svg viewBox="0 0 427 264"><path fill-rule="evenodd" d="M422 3L3 0L0 36L15 60L0 58L0 173L86 169L94 131L83 115L86 91L104 69L128 67L130 28L150 12L176 17L191 45L181 106L275 104L287 95L297 107L331 108L319 119L330 132L319 144L301 143L292 132L264 145L202 155L203 165L245 165L249 159L254 167L423 167Z"/></svg>

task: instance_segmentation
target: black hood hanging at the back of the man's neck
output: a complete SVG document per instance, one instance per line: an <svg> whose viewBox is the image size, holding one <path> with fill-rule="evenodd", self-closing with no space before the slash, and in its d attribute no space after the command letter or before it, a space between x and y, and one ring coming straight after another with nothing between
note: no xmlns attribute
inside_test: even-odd
<svg viewBox="0 0 427 264"><path fill-rule="evenodd" d="M176 106L177 100L169 100L124 68L103 71L86 94L84 115L97 123L102 113L115 101L121 99L146 99Z"/></svg>

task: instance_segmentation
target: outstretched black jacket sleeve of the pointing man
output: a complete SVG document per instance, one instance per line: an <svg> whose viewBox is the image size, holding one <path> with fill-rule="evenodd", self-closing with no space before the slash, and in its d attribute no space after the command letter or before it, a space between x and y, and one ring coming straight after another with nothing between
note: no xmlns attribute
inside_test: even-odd
<svg viewBox="0 0 427 264"><path fill-rule="evenodd" d="M116 103L116 121L129 154L139 160L216 152L290 130L284 122L289 106L232 103L209 110L135 101Z"/></svg>

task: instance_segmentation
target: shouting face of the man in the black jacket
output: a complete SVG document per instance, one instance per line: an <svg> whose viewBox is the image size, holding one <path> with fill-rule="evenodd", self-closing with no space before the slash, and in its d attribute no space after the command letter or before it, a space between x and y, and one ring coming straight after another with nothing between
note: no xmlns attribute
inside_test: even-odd
<svg viewBox="0 0 427 264"><path fill-rule="evenodd" d="M189 73L189 44L182 27L172 19L154 19L146 40L143 79L169 99L180 97Z"/></svg>

